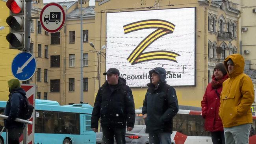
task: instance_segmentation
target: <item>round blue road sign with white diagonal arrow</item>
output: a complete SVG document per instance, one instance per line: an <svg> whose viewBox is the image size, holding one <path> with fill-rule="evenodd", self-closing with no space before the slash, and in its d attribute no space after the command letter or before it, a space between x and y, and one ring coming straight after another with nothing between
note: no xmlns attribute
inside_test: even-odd
<svg viewBox="0 0 256 144"><path fill-rule="evenodd" d="M20 81L26 81L35 74L37 63L35 57L29 52L20 52L11 63L13 76Z"/></svg>

